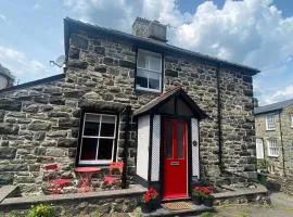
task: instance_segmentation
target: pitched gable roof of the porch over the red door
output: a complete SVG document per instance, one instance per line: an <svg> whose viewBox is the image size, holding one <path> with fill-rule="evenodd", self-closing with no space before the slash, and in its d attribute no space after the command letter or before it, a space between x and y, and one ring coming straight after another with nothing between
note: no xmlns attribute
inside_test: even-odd
<svg viewBox="0 0 293 217"><path fill-rule="evenodd" d="M167 102L169 99L180 95L186 104L189 105L189 107L192 110L192 112L195 114L199 119L207 117L204 111L202 111L199 105L193 101L193 99L188 95L188 93L181 88L176 87L169 91L166 91L155 99L151 100L149 103L140 107L139 110L133 112L133 116L141 116L146 113L155 113L155 111L165 102Z"/></svg>

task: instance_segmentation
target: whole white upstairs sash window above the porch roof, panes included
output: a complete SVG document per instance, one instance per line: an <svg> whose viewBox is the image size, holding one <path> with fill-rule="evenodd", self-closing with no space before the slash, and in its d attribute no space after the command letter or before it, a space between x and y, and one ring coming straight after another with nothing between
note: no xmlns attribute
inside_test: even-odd
<svg viewBox="0 0 293 217"><path fill-rule="evenodd" d="M138 51L137 79L138 90L161 92L162 55L145 50Z"/></svg>

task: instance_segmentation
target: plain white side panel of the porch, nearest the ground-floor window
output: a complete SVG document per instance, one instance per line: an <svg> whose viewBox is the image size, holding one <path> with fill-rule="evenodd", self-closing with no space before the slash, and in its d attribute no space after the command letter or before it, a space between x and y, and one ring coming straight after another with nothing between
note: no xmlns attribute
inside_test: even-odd
<svg viewBox="0 0 293 217"><path fill-rule="evenodd" d="M150 115L144 115L138 119L137 175L145 180L149 176L149 146Z"/></svg>

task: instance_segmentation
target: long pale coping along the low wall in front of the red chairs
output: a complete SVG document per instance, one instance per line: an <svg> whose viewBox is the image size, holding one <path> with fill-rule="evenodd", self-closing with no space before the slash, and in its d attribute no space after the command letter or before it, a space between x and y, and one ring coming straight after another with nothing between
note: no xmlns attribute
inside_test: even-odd
<svg viewBox="0 0 293 217"><path fill-rule="evenodd" d="M91 200L91 199L105 199L105 197L123 197L131 195L140 195L146 192L146 189L140 184L130 184L128 189L112 190L112 191L99 191L87 193L71 193L71 194L58 194L58 195L38 195L38 196L24 196L24 197L10 197L0 203L1 206L22 206L36 203L53 203L61 201L72 200Z"/></svg>

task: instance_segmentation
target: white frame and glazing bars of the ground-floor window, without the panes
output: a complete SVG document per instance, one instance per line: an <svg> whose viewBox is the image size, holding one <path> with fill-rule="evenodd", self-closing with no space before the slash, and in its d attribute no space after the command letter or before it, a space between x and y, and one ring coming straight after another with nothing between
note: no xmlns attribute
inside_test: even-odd
<svg viewBox="0 0 293 217"><path fill-rule="evenodd" d="M87 115L97 115L100 116L100 120L99 120L99 135L98 136L85 136L84 131L85 131L85 124L86 124L86 116ZM101 133L101 120L102 120L102 116L112 116L115 117L115 127L114 127L114 136L113 137L100 137ZM82 132L81 132L81 138L80 138L80 145L79 145L79 157L78 157L78 164L80 165L105 165L105 164L110 164L112 163L116 157L114 156L114 151L115 151L115 142L116 142L116 128L117 128L117 115L111 115L111 114L101 114L101 113L85 113L84 114L84 124L82 124ZM98 158L98 154L99 154L99 142L100 139L113 139L113 148L112 148L112 157L111 159L95 159L95 161L87 161L87 159L80 159L81 157L81 151L82 151L82 139L84 138L93 138L93 139L98 139L98 145L97 145L97 150L95 150L95 158Z"/></svg>

